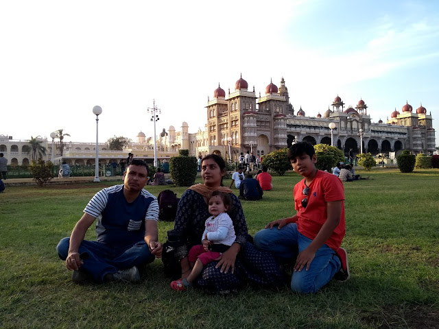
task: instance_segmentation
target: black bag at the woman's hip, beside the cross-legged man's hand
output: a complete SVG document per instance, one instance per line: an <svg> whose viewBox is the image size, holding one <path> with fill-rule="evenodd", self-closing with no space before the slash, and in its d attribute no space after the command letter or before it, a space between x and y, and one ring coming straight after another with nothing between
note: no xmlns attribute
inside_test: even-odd
<svg viewBox="0 0 439 329"><path fill-rule="evenodd" d="M181 277L180 257L176 255L175 249L185 245L185 239L180 231L167 231L167 239L163 244L162 262L165 269L165 276L176 280Z"/></svg>

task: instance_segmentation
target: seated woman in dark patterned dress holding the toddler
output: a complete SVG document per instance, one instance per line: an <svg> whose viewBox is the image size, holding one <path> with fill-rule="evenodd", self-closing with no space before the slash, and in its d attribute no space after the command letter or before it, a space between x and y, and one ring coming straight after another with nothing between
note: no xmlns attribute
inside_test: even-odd
<svg viewBox="0 0 439 329"><path fill-rule="evenodd" d="M185 245L176 249L180 257L181 278L187 278L191 272L189 249L199 245L204 232L204 222L211 215L206 197L213 191L230 193L233 212L230 218L235 228L235 243L222 254L222 258L204 267L198 278L198 285L212 293L235 292L243 284L259 284L266 287L278 287L283 277L271 254L257 250L247 241L247 224L241 202L230 188L222 186L226 174L223 158L209 154L202 159L201 177L204 184L195 184L183 193L178 203L174 230L181 232Z"/></svg>

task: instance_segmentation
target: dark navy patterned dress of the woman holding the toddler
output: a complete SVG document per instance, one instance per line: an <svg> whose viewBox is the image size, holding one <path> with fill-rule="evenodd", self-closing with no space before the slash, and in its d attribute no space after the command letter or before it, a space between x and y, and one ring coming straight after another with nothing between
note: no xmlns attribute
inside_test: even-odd
<svg viewBox="0 0 439 329"><path fill-rule="evenodd" d="M221 273L215 269L218 262L212 262L204 267L197 284L211 293L236 292L244 284L257 284L264 287L279 287L283 284L283 276L276 260L268 252L256 249L247 241L248 232L246 218L241 202L230 193L232 208L230 218L235 228L236 243L241 245L241 251L235 262L235 273ZM204 197L193 190L183 193L178 202L175 230L182 232L187 244L179 247L177 253L187 256L193 245L199 245L204 232L204 222L211 215Z"/></svg>

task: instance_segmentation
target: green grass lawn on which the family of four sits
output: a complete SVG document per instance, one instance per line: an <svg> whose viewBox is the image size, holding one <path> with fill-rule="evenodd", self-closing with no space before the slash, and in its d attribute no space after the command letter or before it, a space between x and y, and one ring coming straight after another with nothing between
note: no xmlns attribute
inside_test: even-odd
<svg viewBox="0 0 439 329"><path fill-rule="evenodd" d="M0 327L439 328L439 171L359 173L370 180L344 184L351 280L316 295L287 287L244 287L229 297L176 293L160 260L141 284L73 284L55 247L93 194L112 183L8 187L0 194ZM295 212L298 180L274 176L261 201L242 202L250 234ZM147 187L154 195L165 189ZM159 223L162 242L172 226ZM95 239L93 231L86 239Z"/></svg>

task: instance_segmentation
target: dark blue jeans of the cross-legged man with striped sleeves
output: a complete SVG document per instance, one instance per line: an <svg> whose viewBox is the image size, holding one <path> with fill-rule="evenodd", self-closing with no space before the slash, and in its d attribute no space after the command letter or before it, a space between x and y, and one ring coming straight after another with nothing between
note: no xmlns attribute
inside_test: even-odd
<svg viewBox="0 0 439 329"><path fill-rule="evenodd" d="M64 238L56 246L58 256L66 260L69 252L70 238ZM104 276L108 273L116 273L119 269L129 269L133 266L152 263L155 256L151 254L145 241L139 241L135 245L114 249L97 241L82 241L79 253L88 253L88 259L82 260L81 269L93 276L95 282L104 282Z"/></svg>

